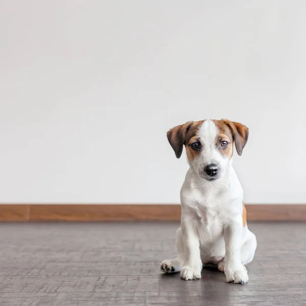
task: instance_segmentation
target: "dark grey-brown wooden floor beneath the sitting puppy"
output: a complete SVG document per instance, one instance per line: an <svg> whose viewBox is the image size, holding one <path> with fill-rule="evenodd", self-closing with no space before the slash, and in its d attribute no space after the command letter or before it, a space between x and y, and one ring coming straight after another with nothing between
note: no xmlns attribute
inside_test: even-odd
<svg viewBox="0 0 306 306"><path fill-rule="evenodd" d="M253 223L249 283L163 275L174 223L0 223L0 305L306 305L306 223Z"/></svg>

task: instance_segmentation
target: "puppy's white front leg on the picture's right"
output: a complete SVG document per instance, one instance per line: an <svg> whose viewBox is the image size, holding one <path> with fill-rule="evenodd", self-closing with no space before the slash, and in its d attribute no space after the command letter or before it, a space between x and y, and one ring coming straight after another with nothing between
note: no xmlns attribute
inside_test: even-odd
<svg viewBox="0 0 306 306"><path fill-rule="evenodd" d="M224 228L225 258L224 273L229 283L244 284L248 282L246 268L241 264L242 218L233 218Z"/></svg>

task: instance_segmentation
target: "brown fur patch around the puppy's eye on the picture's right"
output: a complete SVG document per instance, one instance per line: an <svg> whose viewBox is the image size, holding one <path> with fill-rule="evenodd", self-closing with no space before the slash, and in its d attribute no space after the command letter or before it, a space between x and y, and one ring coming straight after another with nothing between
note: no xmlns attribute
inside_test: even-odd
<svg viewBox="0 0 306 306"><path fill-rule="evenodd" d="M229 159L233 156L234 151L234 136L230 127L223 120L213 120L217 126L219 131L216 136L215 144L220 153L225 157L227 156ZM220 147L221 141L227 141L228 145L226 147Z"/></svg>

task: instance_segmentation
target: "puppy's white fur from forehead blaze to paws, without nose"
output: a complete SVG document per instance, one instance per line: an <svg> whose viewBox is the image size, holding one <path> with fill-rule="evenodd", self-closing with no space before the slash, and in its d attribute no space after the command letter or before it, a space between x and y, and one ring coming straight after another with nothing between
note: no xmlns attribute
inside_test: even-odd
<svg viewBox="0 0 306 306"><path fill-rule="evenodd" d="M244 267L252 261L256 237L243 227L243 190L232 160L215 147L218 133L213 121L200 127L204 144L199 157L190 163L181 189L181 227L176 232L177 258L161 263L166 273L181 271L183 279L201 278L202 265L212 263L224 271L227 282L247 283ZM209 182L203 174L206 164L216 163L220 177Z"/></svg>

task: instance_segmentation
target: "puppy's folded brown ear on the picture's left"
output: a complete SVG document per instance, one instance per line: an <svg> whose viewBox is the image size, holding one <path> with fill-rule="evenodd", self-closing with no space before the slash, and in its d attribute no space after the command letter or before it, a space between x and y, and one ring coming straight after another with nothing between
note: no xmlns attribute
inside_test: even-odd
<svg viewBox="0 0 306 306"><path fill-rule="evenodd" d="M189 121L185 124L177 125L167 132L168 141L177 158L180 158L182 155L186 135L192 123L193 121Z"/></svg>

